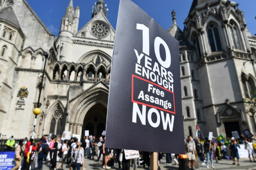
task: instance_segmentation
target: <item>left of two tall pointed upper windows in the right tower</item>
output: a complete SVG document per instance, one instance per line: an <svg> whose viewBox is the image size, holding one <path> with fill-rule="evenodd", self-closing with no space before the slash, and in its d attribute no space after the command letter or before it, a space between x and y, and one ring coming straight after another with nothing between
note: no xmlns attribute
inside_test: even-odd
<svg viewBox="0 0 256 170"><path fill-rule="evenodd" d="M208 26L207 33L211 52L222 50L221 37L219 36L218 27L215 24L211 23Z"/></svg>

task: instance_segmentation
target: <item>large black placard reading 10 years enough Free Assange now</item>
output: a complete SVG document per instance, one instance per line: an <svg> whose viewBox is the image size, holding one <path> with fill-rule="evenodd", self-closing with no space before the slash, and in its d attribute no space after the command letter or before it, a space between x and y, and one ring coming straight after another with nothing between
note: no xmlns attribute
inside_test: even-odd
<svg viewBox="0 0 256 170"><path fill-rule="evenodd" d="M121 0L111 66L109 148L185 154L179 42Z"/></svg>

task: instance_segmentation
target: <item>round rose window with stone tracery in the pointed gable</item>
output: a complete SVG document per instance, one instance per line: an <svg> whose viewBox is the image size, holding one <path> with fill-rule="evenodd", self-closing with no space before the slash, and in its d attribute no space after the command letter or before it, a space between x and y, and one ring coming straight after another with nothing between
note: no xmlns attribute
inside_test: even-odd
<svg viewBox="0 0 256 170"><path fill-rule="evenodd" d="M91 33L95 37L102 39L109 34L109 28L102 23L95 23L91 26Z"/></svg>

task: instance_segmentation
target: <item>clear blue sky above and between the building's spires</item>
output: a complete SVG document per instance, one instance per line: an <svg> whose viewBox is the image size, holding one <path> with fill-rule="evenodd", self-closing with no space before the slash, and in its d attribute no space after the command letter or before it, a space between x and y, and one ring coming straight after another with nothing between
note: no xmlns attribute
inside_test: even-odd
<svg viewBox="0 0 256 170"><path fill-rule="evenodd" d="M183 30L183 22L187 17L192 0L132 0L147 14L154 18L166 30L173 24L171 11L176 11L176 21ZM27 0L30 6L49 28L51 33L58 36L61 19L65 14L70 0ZM80 7L79 29L91 19L91 11L97 0L73 0L74 7ZM247 27L251 34L256 34L256 0L236 0L244 12ZM109 8L108 16L113 28L117 25L119 0L104 0Z"/></svg>

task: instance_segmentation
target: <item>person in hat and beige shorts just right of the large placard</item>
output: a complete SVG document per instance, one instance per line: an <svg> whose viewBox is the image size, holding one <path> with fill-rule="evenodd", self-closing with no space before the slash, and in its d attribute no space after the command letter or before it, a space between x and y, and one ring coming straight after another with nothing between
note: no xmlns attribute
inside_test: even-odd
<svg viewBox="0 0 256 170"><path fill-rule="evenodd" d="M187 137L185 146L186 146L187 156L189 156L189 169L193 170L194 163L195 163L195 144L192 140L192 136ZM191 165L190 165L190 162L191 162Z"/></svg>

